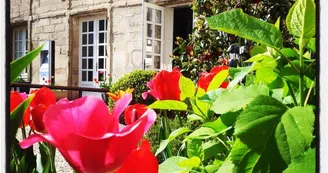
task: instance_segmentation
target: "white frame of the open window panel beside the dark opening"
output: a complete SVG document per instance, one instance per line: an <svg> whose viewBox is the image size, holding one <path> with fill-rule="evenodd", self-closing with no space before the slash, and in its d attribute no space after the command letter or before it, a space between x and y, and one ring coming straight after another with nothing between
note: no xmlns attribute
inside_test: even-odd
<svg viewBox="0 0 328 173"><path fill-rule="evenodd" d="M152 21L147 21L147 11L148 8L152 9ZM156 23L155 18L156 18L156 10L161 11L161 23ZM147 70L161 70L164 67L164 44L165 44L165 38L164 38L164 27L165 27L165 18L164 18L164 7L154 5L151 3L143 2L143 39L142 39L142 67L143 69ZM152 36L148 37L147 36L147 26L148 24L152 25ZM161 27L161 38L155 38L155 25L158 25ZM151 40L152 41L152 50L151 52L147 52L147 41ZM161 46L160 46L160 53L155 53L155 41L160 41ZM146 57L147 55L150 55L151 58L151 67L146 68ZM154 66L154 57L159 56L160 57L160 68L155 68Z"/></svg>

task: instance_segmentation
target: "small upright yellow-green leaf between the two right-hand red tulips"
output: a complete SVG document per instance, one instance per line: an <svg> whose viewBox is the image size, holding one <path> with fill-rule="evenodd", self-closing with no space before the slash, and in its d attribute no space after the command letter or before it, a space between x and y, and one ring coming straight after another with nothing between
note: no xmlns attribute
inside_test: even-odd
<svg viewBox="0 0 328 173"><path fill-rule="evenodd" d="M179 87L181 90L181 100L184 100L185 98L189 97L194 97L196 87L194 82L192 82L190 79L181 76L179 80Z"/></svg>

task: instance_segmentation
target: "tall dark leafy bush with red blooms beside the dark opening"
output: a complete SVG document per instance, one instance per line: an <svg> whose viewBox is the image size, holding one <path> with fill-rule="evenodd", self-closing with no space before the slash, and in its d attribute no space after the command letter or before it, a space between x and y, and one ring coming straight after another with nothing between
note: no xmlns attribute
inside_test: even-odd
<svg viewBox="0 0 328 173"><path fill-rule="evenodd" d="M245 66L244 60L250 57L253 43L233 34L209 28L206 17L221 12L241 8L246 14L261 18L264 21L275 23L281 17L281 28L284 37L284 46L294 45L287 32L285 16L294 0L243 0L243 1L193 1L192 9L195 15L193 34L188 39L177 38L177 48L172 55L173 66L181 69L184 76L196 82L199 73L208 72L216 65L224 64L232 57L229 52L237 52L239 61L233 61L229 66ZM243 46L243 49L242 49ZM229 49L230 48L230 49ZM239 49L240 48L240 49Z"/></svg>

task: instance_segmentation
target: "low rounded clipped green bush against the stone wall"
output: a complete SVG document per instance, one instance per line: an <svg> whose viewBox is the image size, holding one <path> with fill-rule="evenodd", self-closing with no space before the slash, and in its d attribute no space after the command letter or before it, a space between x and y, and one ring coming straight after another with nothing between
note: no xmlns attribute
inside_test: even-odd
<svg viewBox="0 0 328 173"><path fill-rule="evenodd" d="M147 82L154 77L155 71L152 70L135 70L129 74L126 74L115 82L111 89L111 93L116 93L119 90L125 91L128 88L133 88L133 100L131 104L151 104L155 100L153 97L147 97L146 100L142 98L142 93L148 91ZM113 101L110 99L109 104L113 105Z"/></svg>

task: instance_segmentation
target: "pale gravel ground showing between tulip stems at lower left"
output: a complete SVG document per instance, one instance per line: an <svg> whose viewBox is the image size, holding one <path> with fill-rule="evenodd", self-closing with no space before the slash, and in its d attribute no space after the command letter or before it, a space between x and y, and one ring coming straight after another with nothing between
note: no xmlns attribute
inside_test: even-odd
<svg viewBox="0 0 328 173"><path fill-rule="evenodd" d="M26 130L29 131L30 129L27 127ZM16 137L19 141L22 141L22 133L21 133L20 129L18 129ZM39 144L34 144L33 150L34 150L34 154L39 154L40 153ZM64 159L64 157L61 155L61 153L58 150L56 150L55 164L56 164L56 171L58 173L72 173L73 172L73 169L71 168L71 166L69 166L69 164L66 162L66 160Z"/></svg>

